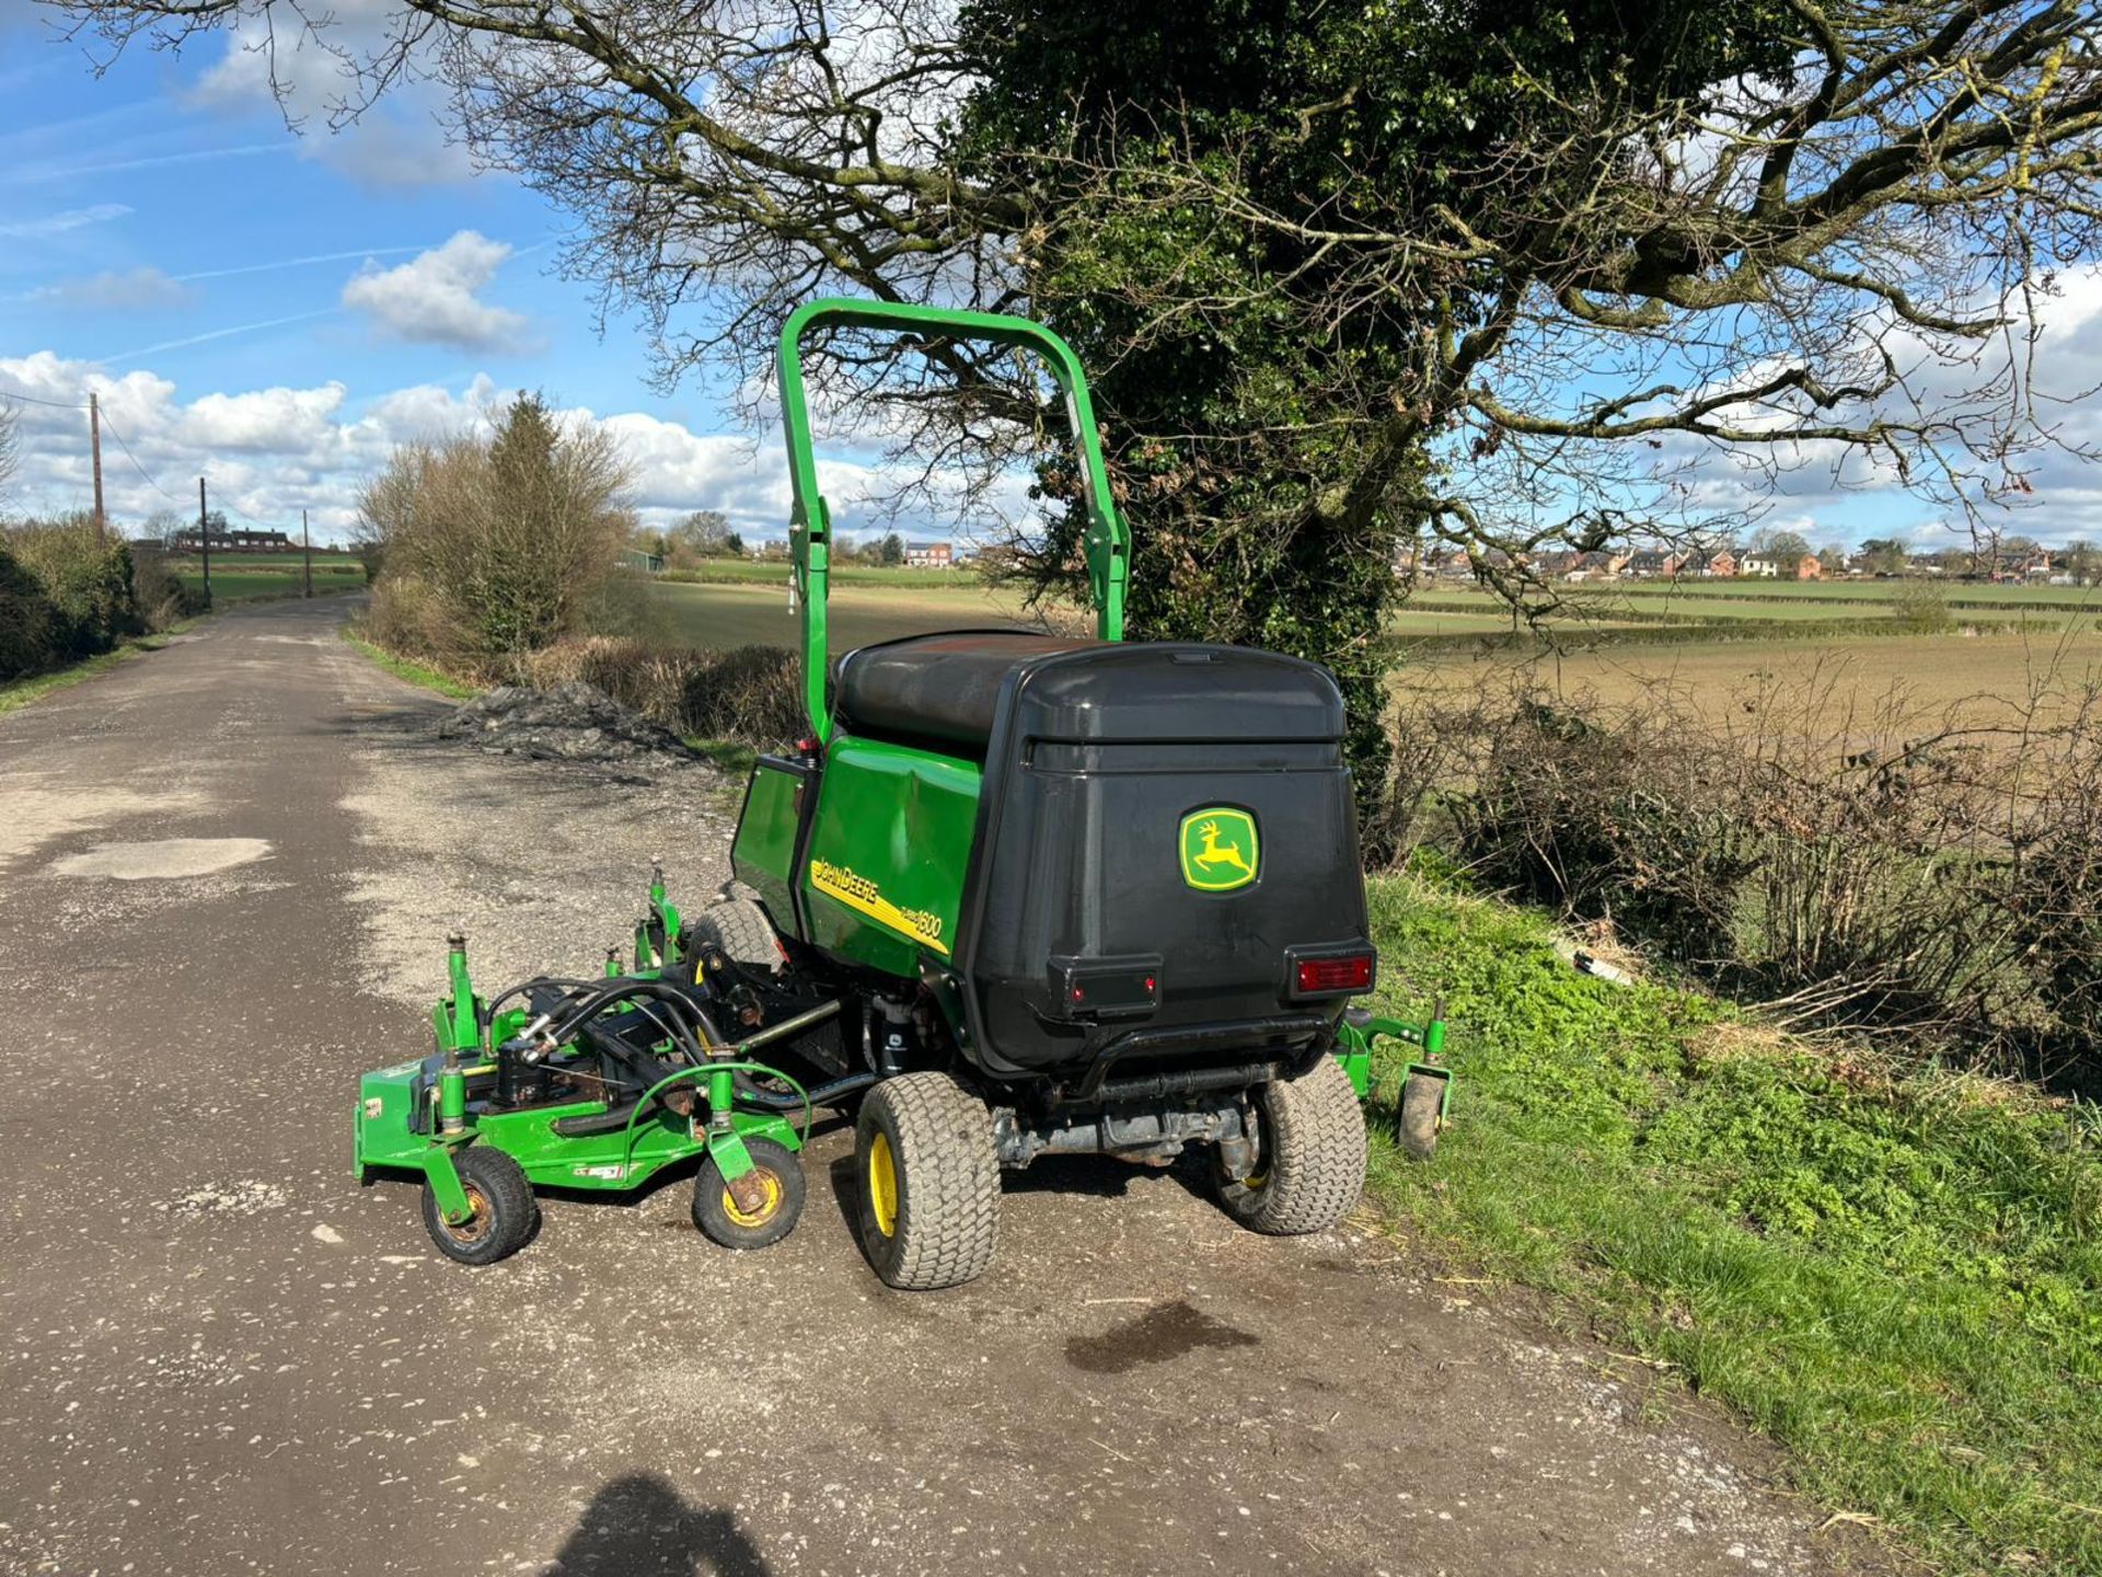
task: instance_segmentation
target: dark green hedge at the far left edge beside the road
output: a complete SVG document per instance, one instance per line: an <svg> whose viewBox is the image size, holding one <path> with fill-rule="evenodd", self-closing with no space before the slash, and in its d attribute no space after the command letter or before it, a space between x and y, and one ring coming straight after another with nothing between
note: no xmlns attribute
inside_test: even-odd
<svg viewBox="0 0 2102 1577"><path fill-rule="evenodd" d="M130 547L105 545L90 517L0 534L0 677L78 662L143 631Z"/></svg>

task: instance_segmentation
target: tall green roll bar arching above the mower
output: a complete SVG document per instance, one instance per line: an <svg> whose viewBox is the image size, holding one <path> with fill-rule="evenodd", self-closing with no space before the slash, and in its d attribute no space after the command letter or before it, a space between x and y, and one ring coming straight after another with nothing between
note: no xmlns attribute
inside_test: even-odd
<svg viewBox="0 0 2102 1577"><path fill-rule="evenodd" d="M1131 570L1131 532L1110 498L1110 477L1095 437L1095 406L1087 395L1087 374L1072 347L1028 318L990 311L912 307L891 301L811 301L782 324L782 429L788 439L788 486L795 513L788 542L795 557L795 591L803 610L803 704L818 740L832 738L826 706L826 597L832 585L832 511L818 492L818 458L809 444L809 404L803 395L803 336L813 328L927 330L935 339L969 339L1036 351L1066 395L1074 454L1080 458L1080 488L1087 494L1087 582L1095 601L1095 633L1106 641L1125 639L1125 580Z"/></svg>

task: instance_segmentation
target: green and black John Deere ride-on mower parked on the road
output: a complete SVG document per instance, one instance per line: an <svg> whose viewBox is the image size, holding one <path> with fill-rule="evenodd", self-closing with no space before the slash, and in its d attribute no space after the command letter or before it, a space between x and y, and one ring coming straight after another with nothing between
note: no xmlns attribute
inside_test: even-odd
<svg viewBox="0 0 2102 1577"><path fill-rule="evenodd" d="M832 526L803 395L813 330L1034 353L1066 397L1095 639L919 635L830 660ZM862 1247L952 1287L998 1245L1001 1171L1045 1154L1211 1152L1228 1213L1318 1232L1364 1182L1373 1041L1417 1047L1415 1154L1450 1093L1444 1024L1373 988L1343 700L1297 658L1125 641L1129 534L1087 381L1049 330L858 301L780 341L809 738L744 793L725 898L662 873L631 959L475 992L460 938L433 1056L366 1074L357 1171L418 1173L425 1224L490 1264L534 1188L628 1192L696 1163L694 1224L753 1249L803 1207L816 1108L856 1110Z"/></svg>

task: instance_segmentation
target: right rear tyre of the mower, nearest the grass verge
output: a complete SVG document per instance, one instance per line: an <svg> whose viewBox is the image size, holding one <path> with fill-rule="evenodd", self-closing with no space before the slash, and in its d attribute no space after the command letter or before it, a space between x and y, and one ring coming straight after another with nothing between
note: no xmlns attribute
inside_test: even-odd
<svg viewBox="0 0 2102 1577"><path fill-rule="evenodd" d="M1335 1058L1255 1095L1255 1171L1215 1171L1225 1213L1255 1232L1326 1232L1364 1192L1364 1108Z"/></svg>

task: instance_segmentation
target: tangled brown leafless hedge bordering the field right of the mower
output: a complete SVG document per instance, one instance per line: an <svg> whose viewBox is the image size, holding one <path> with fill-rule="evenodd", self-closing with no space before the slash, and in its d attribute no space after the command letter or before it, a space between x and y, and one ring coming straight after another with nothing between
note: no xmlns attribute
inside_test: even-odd
<svg viewBox="0 0 2102 1577"><path fill-rule="evenodd" d="M1423 702L1373 826L1791 1022L2102 1085L2102 713L2058 702L2005 728L1818 679L1722 719L1669 692Z"/></svg>

